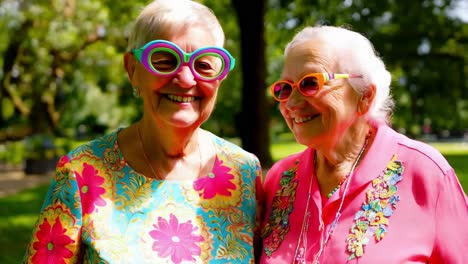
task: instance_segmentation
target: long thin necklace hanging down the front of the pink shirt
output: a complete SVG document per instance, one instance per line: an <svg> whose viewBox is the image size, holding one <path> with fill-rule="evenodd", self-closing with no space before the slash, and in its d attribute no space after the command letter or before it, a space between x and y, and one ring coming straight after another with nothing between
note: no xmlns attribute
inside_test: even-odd
<svg viewBox="0 0 468 264"><path fill-rule="evenodd" d="M338 219L341 216L341 209L343 207L344 198L346 196L346 193L348 192L348 187L349 187L349 183L351 181L351 177L354 174L354 170L355 170L357 164L361 160L362 154L364 153L365 149L367 148L367 144L369 143L369 138L370 138L371 134L372 134L372 130L369 130L369 133L367 133L367 135L366 135L366 139L364 141L364 144L362 145L362 148L359 151L359 154L356 157L356 160L354 161L353 165L351 166L351 170L349 171L349 173L347 174L345 179L335 189L333 189L330 194L328 194L328 198L330 198L331 195L333 195L333 193L335 193L341 187L341 185L346 180L349 179L348 181L346 181L345 189L343 191L343 196L341 196L340 206L338 207L338 211L335 214L335 219L333 220L330 228L328 229L328 232L327 232L327 234L325 236L325 240L323 239L323 236L321 236L320 250L317 253L317 255L315 256L315 258L314 258L314 262L313 262L314 264L319 263L318 260L319 260L320 256L322 255L323 250L325 249L325 246L327 245L327 243L328 243L328 241L329 241L329 239L330 239L330 237L331 237L331 235L333 233L333 230L335 229L336 224L338 223ZM316 162L317 162L317 153L314 154L314 167L315 168L316 168ZM307 233L308 233L308 230L309 230L309 219L310 219L310 215L311 215L311 213L309 212L309 201L310 201L310 197L312 195L312 182L313 182L313 179L310 179L304 219L303 219L303 222L302 222L301 232L299 234L299 238L298 238L298 241L297 241L296 250L294 252L293 263L301 263L301 264L306 263L305 258L306 258L306 249L307 249ZM303 245L302 247L300 247L301 243Z"/></svg>

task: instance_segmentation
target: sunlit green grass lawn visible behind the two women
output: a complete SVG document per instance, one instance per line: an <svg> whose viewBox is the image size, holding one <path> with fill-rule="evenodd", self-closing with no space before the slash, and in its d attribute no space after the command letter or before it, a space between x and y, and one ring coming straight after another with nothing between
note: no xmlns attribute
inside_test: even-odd
<svg viewBox="0 0 468 264"><path fill-rule="evenodd" d="M434 146L455 168L465 193L468 193L468 144ZM278 160L304 148L290 142L274 144L271 150L273 158ZM0 263L21 263L46 192L47 186L40 186L0 198Z"/></svg>

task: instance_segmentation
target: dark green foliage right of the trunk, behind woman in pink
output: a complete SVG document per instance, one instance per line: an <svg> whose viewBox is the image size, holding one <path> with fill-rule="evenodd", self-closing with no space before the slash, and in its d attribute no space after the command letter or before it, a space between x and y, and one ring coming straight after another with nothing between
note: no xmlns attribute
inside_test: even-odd
<svg viewBox="0 0 468 264"><path fill-rule="evenodd" d="M434 133L460 135L468 128L468 24L449 15L460 3L270 0L268 83L280 77L282 49L298 30L344 25L368 37L392 72L396 128L419 135L429 119Z"/></svg>

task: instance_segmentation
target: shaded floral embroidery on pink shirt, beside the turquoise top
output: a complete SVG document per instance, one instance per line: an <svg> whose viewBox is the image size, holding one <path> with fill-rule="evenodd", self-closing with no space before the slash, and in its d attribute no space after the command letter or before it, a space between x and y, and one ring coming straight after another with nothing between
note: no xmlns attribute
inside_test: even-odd
<svg viewBox="0 0 468 264"><path fill-rule="evenodd" d="M293 211L296 188L298 185L298 181L295 177L298 164L299 161L296 160L294 167L283 172L280 180L281 188L276 192L273 198L268 223L262 230L264 251L269 257L278 249L284 237L289 232L289 215Z"/></svg>

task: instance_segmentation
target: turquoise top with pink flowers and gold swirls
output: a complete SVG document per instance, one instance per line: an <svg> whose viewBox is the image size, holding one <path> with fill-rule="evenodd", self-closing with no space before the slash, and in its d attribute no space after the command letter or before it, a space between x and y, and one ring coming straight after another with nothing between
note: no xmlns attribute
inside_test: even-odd
<svg viewBox="0 0 468 264"><path fill-rule="evenodd" d="M210 134L213 170L194 181L144 177L117 131L61 158L25 263L254 263L258 159Z"/></svg>

